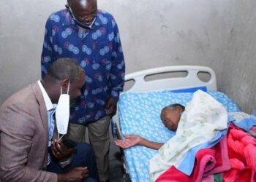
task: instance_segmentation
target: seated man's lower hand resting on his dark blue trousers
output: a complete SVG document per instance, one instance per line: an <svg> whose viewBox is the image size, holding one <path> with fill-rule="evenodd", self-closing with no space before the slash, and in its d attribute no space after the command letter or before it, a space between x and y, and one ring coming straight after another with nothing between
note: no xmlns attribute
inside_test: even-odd
<svg viewBox="0 0 256 182"><path fill-rule="evenodd" d="M89 170L87 167L75 167L64 174L58 174L58 182L82 182L89 177Z"/></svg>

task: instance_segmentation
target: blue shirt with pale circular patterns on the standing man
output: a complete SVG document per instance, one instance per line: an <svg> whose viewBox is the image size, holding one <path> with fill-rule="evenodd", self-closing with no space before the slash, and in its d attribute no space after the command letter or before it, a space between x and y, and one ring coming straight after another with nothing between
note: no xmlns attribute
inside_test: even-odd
<svg viewBox="0 0 256 182"><path fill-rule="evenodd" d="M98 10L94 25L84 31L75 25L67 9L55 12L45 25L42 78L59 58L72 58L86 72L81 97L70 108L70 122L85 124L106 116L110 97L119 98L124 86L124 55L118 26L108 12Z"/></svg>

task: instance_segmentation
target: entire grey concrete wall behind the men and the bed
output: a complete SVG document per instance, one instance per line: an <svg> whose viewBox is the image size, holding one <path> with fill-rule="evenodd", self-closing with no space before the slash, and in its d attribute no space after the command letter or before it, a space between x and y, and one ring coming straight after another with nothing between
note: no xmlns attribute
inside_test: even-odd
<svg viewBox="0 0 256 182"><path fill-rule="evenodd" d="M0 1L0 103L40 78L47 17L64 0ZM210 66L219 90L255 108L254 0L98 0L121 33L127 73L171 65Z"/></svg>

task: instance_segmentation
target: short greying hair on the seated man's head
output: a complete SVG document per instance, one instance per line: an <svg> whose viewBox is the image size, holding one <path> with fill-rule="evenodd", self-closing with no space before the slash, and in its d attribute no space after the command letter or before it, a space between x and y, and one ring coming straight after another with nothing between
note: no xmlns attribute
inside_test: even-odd
<svg viewBox="0 0 256 182"><path fill-rule="evenodd" d="M60 58L54 61L48 69L50 78L69 79L70 83L78 82L81 74L85 74L83 68L70 58Z"/></svg>

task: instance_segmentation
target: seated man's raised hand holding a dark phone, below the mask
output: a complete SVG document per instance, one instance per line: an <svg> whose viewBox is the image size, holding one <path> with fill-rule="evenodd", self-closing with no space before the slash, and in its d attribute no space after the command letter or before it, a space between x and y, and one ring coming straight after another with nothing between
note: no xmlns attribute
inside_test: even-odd
<svg viewBox="0 0 256 182"><path fill-rule="evenodd" d="M64 160L71 157L73 149L67 148L61 141L54 140L51 145L53 157L58 160Z"/></svg>

